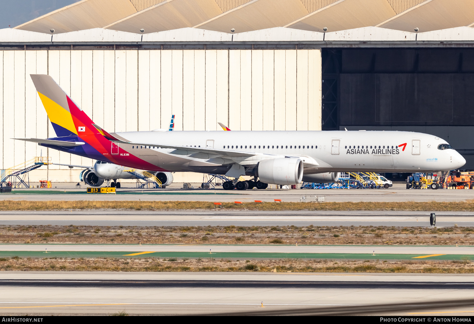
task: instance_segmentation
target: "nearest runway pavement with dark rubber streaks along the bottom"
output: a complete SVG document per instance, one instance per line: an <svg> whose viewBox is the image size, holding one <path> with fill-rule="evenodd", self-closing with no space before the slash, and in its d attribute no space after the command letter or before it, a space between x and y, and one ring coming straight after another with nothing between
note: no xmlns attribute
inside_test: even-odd
<svg viewBox="0 0 474 324"><path fill-rule="evenodd" d="M462 274L10 271L0 313L471 315L473 289Z"/></svg>

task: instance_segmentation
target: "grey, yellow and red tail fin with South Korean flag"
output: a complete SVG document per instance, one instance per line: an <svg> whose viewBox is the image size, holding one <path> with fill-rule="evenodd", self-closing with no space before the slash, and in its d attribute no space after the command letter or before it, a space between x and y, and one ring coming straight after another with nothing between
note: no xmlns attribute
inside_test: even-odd
<svg viewBox="0 0 474 324"><path fill-rule="evenodd" d="M63 89L46 74L30 74L56 136L96 134L93 121Z"/></svg>

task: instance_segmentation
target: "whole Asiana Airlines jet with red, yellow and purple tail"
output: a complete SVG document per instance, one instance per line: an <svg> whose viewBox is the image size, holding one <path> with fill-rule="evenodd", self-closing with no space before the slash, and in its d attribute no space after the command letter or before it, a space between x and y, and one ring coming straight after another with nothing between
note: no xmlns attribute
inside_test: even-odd
<svg viewBox="0 0 474 324"><path fill-rule="evenodd" d="M398 131L141 131L109 133L49 75L32 74L56 137L16 138L153 172L225 174L224 189L334 182L341 171L430 172L465 159L434 135ZM254 180L238 181L241 175Z"/></svg>

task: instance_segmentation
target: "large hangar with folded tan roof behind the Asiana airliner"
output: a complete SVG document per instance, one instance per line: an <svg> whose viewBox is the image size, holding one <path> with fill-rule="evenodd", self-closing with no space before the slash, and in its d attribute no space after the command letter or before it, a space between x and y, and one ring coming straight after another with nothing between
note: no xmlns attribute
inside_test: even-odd
<svg viewBox="0 0 474 324"><path fill-rule="evenodd" d="M11 139L54 136L29 78L47 73L108 131L167 128L172 113L176 131L408 130L474 169L473 25L466 0L83 0L0 29L0 168L92 165Z"/></svg>

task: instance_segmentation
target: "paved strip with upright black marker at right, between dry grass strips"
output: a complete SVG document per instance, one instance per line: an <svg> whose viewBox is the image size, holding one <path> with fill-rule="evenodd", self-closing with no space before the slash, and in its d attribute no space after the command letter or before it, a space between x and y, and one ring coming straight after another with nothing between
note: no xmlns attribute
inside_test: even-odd
<svg viewBox="0 0 474 324"><path fill-rule="evenodd" d="M429 214L418 211L1 211L0 225L429 226ZM473 212L436 212L436 215L438 227L474 226Z"/></svg>

